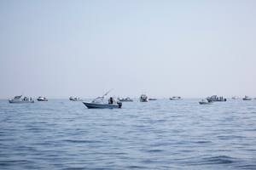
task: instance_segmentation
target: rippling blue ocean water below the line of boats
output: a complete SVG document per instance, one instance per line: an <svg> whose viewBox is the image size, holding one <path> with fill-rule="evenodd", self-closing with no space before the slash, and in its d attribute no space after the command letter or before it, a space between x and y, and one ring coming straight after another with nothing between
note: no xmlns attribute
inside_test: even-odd
<svg viewBox="0 0 256 170"><path fill-rule="evenodd" d="M0 100L0 169L256 169L256 99Z"/></svg>

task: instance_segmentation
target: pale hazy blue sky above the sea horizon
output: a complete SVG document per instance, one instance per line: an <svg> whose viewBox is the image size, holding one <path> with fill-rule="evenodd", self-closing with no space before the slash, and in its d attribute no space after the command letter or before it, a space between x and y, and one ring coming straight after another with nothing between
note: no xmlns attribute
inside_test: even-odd
<svg viewBox="0 0 256 170"><path fill-rule="evenodd" d="M0 99L256 97L255 0L2 0Z"/></svg>

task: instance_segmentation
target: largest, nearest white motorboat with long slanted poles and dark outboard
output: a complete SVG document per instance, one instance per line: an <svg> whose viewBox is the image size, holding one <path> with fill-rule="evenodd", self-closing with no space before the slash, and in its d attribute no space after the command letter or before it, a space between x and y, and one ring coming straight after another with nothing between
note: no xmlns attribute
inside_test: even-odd
<svg viewBox="0 0 256 170"><path fill-rule="evenodd" d="M111 91L111 90L110 90ZM108 93L110 92L108 91ZM107 93L107 94L108 94ZM99 96L96 99L93 99L91 101L82 101L84 105L86 105L89 109L114 109L114 108L121 108L122 103L116 102L115 98L110 98L107 103L104 103L104 97L107 95L104 94L103 96Z"/></svg>

